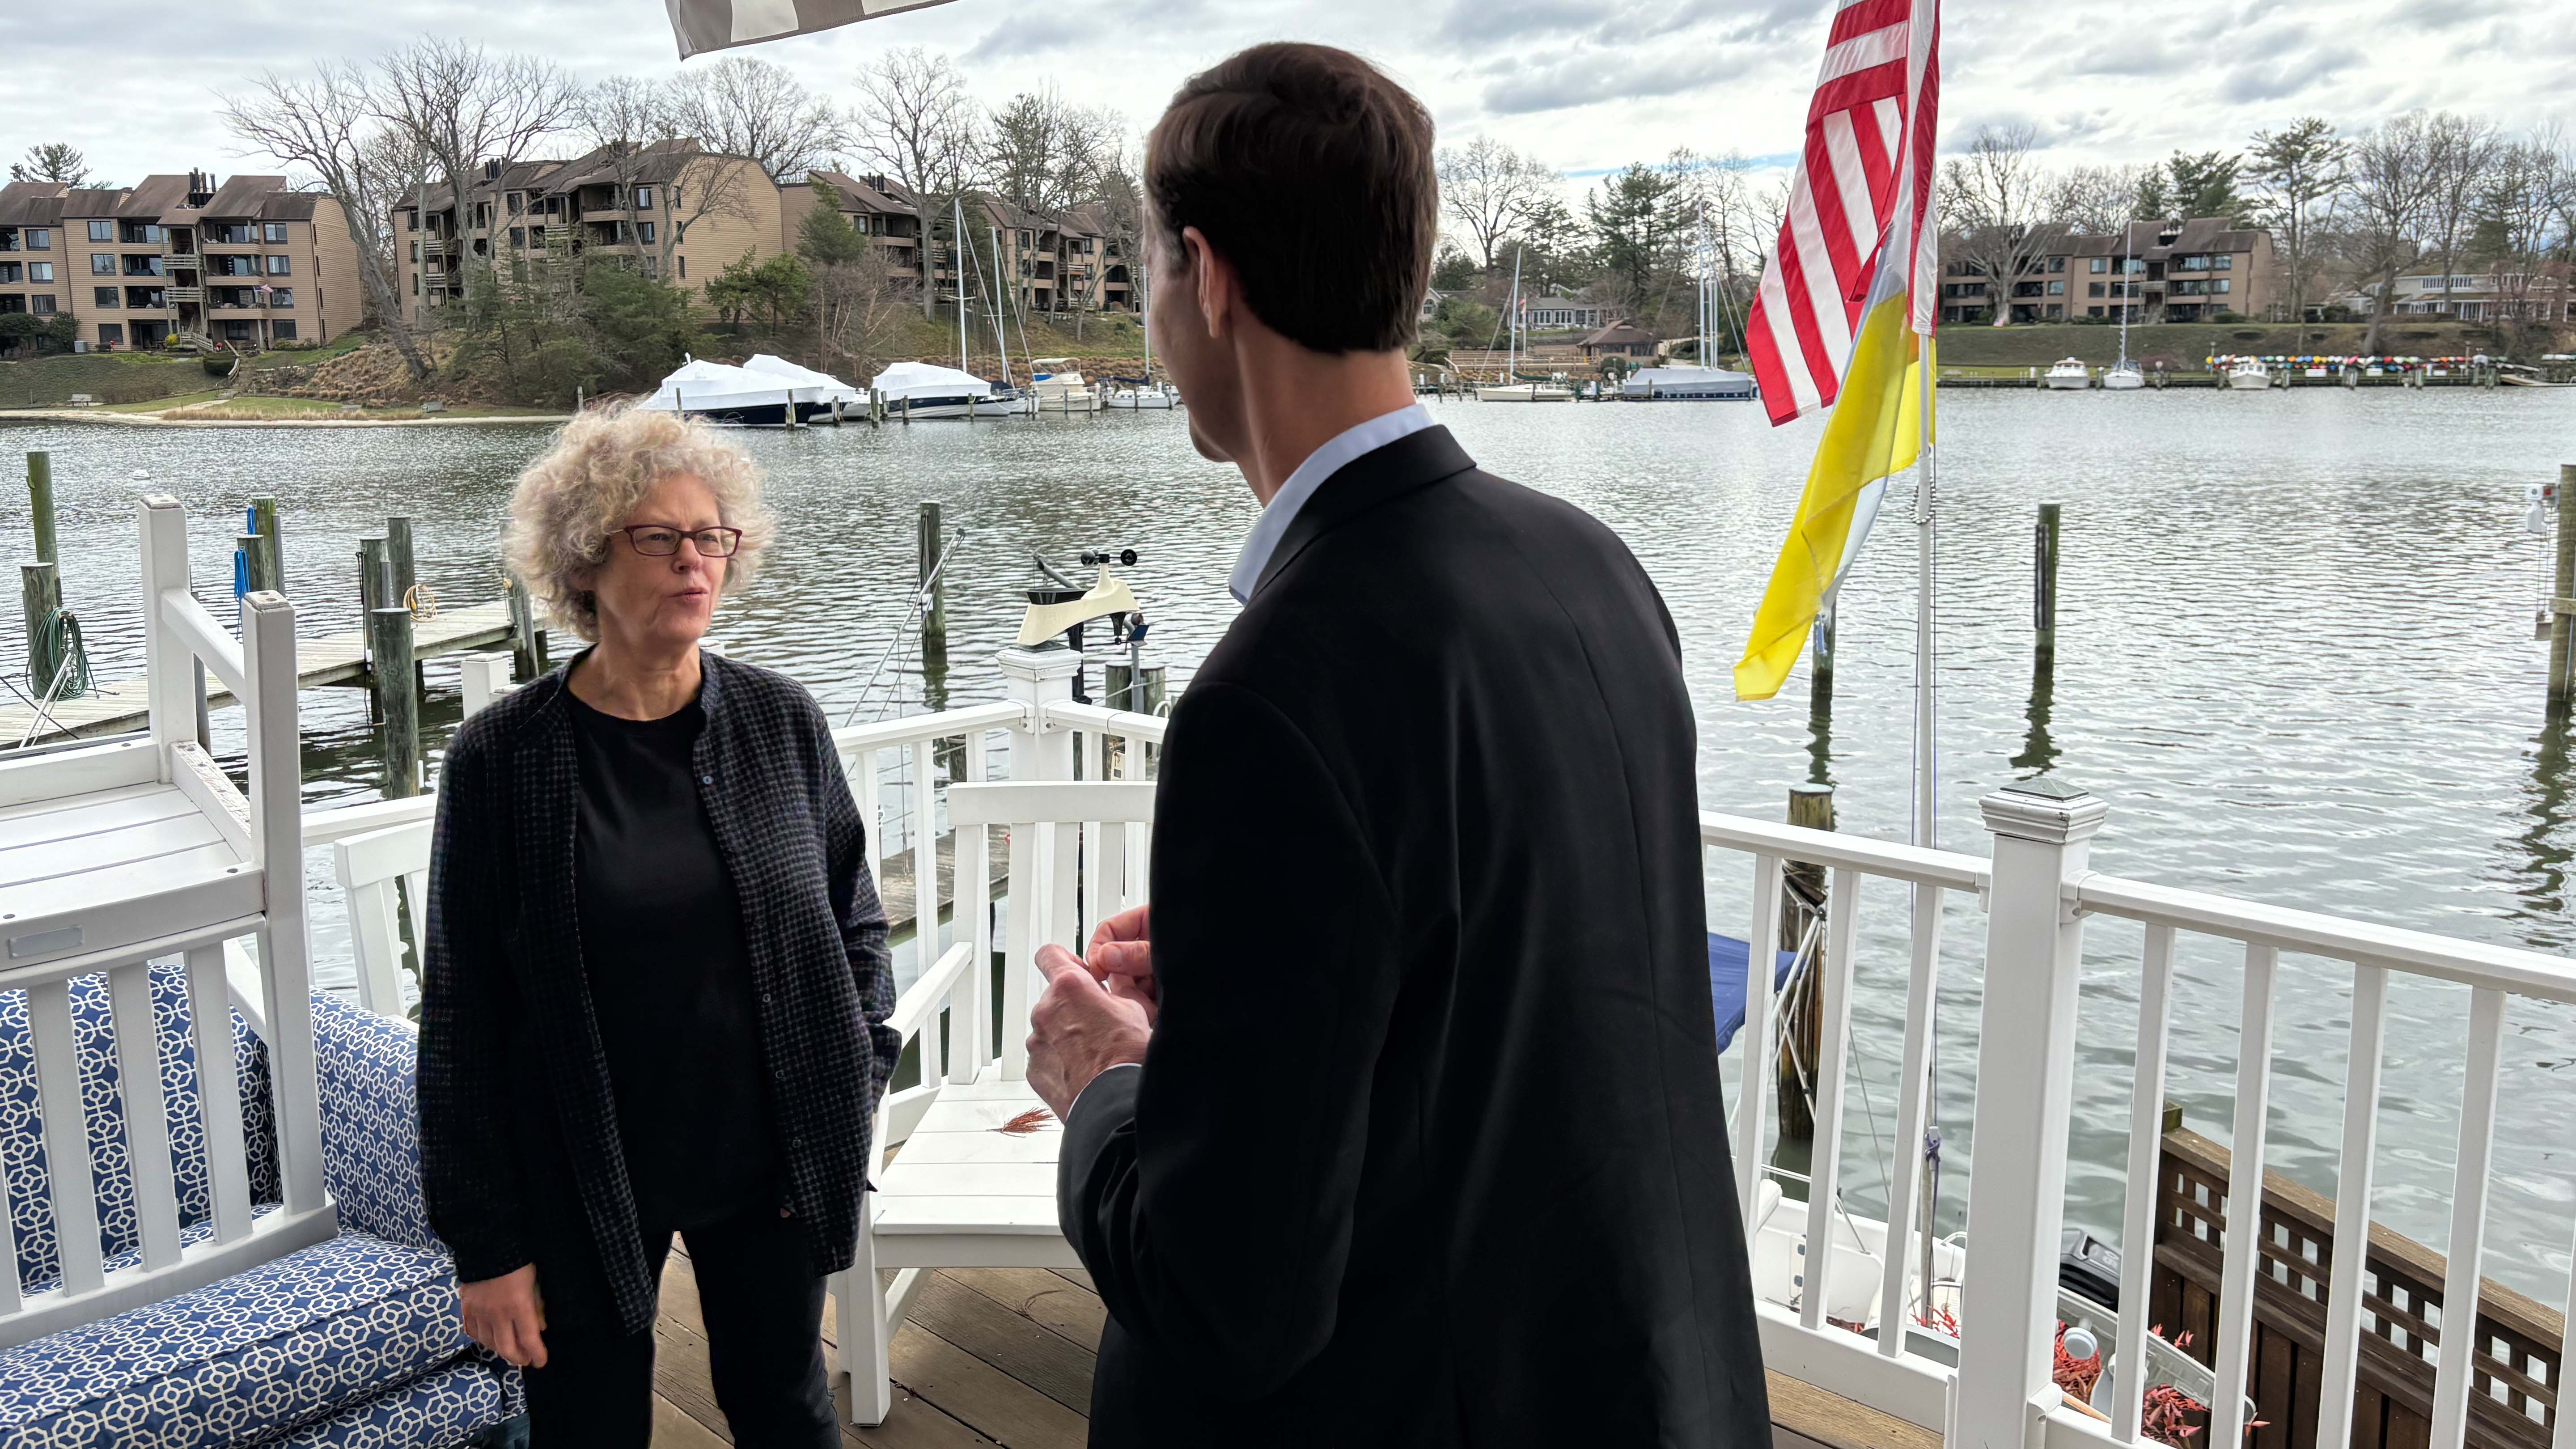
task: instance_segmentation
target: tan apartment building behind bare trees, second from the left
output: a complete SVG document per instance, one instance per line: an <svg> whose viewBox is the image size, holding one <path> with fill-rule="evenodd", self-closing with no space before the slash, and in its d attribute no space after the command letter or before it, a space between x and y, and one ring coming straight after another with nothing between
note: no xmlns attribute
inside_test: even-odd
<svg viewBox="0 0 2576 1449"><path fill-rule="evenodd" d="M466 258L523 273L546 258L613 255L703 289L742 258L796 250L801 206L750 157L698 142L608 144L572 160L489 160L464 188L397 204L397 271L415 317L464 302Z"/></svg>

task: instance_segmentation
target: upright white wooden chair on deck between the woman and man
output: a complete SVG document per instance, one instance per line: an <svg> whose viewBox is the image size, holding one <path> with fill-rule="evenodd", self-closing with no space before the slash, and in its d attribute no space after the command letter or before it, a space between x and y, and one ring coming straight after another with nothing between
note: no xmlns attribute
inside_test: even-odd
<svg viewBox="0 0 2576 1449"><path fill-rule="evenodd" d="M925 874L922 959L894 1006L920 1042L922 1085L889 1093L876 1114L876 1191L860 1209L858 1256L832 1279L850 1421L894 1408L889 1343L933 1269L1079 1269L1056 1225L1064 1127L1028 1085L1028 1008L1041 944L1074 951L1100 918L1141 905L1151 856L1154 786L1144 781L1012 781L948 786L956 830L956 944L938 944L938 877ZM992 1039L987 859L1010 830L999 1042ZM945 1036L940 1031L945 1011ZM889 1145L902 1142L894 1163ZM878 1276L894 1269L894 1284Z"/></svg>

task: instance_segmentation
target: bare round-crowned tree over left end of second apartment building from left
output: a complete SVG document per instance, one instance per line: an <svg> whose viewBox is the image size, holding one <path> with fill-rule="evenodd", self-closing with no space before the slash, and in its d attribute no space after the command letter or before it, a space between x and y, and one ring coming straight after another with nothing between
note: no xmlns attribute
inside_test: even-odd
<svg viewBox="0 0 2576 1449"><path fill-rule="evenodd" d="M562 131L582 90L554 62L495 57L477 44L422 36L376 62L376 116L430 155L456 206L459 240L489 237L469 193L484 162L518 165L544 137ZM428 235L428 217L422 217ZM489 248L487 248L489 250ZM471 258L459 245L459 260Z"/></svg>

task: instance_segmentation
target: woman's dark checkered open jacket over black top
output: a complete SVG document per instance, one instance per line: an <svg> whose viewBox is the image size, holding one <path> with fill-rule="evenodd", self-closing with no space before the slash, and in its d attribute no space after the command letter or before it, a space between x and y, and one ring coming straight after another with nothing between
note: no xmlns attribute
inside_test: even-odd
<svg viewBox="0 0 2576 1449"><path fill-rule="evenodd" d="M569 665L567 665L569 668ZM549 1323L654 1320L574 915L559 668L456 735L438 789L420 998L420 1178L464 1281L538 1263ZM902 1042L866 830L814 699L706 655L696 768L742 895L783 1207L850 1263L876 1098Z"/></svg>

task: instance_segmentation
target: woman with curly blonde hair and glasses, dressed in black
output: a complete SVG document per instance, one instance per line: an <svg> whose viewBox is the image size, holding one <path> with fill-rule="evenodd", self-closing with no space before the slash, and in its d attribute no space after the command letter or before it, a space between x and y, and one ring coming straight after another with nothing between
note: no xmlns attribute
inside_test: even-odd
<svg viewBox="0 0 2576 1449"><path fill-rule="evenodd" d="M510 498L510 570L590 647L446 758L420 1168L536 1449L652 1439L672 1232L734 1441L840 1439L817 1325L899 1039L822 709L698 647L770 536L752 459L667 413L574 418Z"/></svg>

